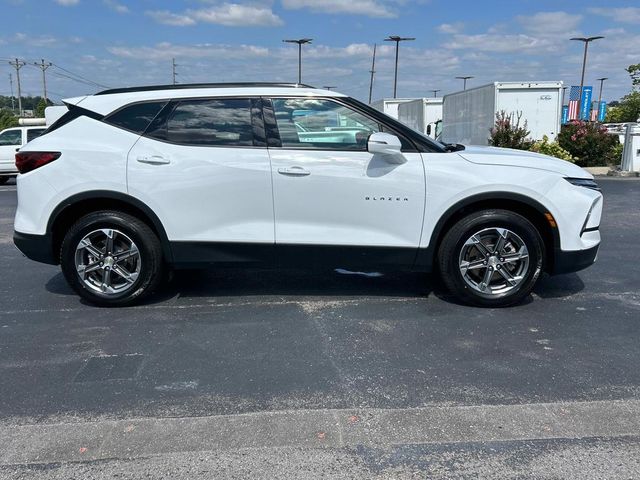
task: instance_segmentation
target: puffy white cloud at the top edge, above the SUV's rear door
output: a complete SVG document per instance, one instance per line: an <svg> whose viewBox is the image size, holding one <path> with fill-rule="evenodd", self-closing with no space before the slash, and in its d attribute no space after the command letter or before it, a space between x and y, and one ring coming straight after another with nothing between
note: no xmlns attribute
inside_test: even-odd
<svg viewBox="0 0 640 480"><path fill-rule="evenodd" d="M168 10L148 11L148 16L165 25L184 27L196 23L214 23L227 27L277 27L284 22L266 5L223 3L173 13Z"/></svg>

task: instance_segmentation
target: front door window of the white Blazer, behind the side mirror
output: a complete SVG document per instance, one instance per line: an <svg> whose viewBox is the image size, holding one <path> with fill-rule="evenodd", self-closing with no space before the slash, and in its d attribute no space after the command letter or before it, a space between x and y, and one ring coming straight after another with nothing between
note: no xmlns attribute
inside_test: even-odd
<svg viewBox="0 0 640 480"><path fill-rule="evenodd" d="M366 150L380 125L332 100L274 98L273 109L284 148Z"/></svg>

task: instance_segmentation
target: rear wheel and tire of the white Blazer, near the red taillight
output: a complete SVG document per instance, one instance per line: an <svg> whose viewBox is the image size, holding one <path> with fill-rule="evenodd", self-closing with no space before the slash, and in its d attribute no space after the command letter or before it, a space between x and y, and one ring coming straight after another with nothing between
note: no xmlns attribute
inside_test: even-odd
<svg viewBox="0 0 640 480"><path fill-rule="evenodd" d="M157 235L140 219L117 211L78 220L62 241L60 266L78 295L101 307L139 302L164 276Z"/></svg>

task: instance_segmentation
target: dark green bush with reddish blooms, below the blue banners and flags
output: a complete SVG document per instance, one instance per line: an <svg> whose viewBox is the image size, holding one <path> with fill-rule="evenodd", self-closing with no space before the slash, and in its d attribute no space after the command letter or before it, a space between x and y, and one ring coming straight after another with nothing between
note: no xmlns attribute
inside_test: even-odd
<svg viewBox="0 0 640 480"><path fill-rule="evenodd" d="M562 126L558 135L560 147L576 158L581 167L605 167L620 163L617 157L618 137L609 135L598 123L573 121Z"/></svg>

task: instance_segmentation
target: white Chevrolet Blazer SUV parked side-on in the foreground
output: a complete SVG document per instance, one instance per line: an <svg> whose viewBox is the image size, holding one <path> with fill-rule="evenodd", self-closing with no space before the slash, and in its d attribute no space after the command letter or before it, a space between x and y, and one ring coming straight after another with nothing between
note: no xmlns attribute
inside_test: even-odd
<svg viewBox="0 0 640 480"><path fill-rule="evenodd" d="M571 163L445 145L288 84L107 90L17 155L15 244L103 306L203 265L438 270L503 306L591 265L602 195Z"/></svg>

